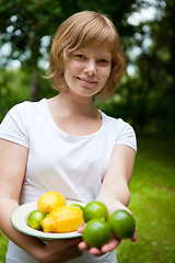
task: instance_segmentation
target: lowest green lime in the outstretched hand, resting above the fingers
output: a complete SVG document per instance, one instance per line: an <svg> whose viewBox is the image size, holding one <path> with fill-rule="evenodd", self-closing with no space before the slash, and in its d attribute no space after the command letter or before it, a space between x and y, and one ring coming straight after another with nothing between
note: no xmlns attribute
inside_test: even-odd
<svg viewBox="0 0 175 263"><path fill-rule="evenodd" d="M101 218L88 221L83 231L83 241L89 248L101 248L110 239L112 230L109 224Z"/></svg>

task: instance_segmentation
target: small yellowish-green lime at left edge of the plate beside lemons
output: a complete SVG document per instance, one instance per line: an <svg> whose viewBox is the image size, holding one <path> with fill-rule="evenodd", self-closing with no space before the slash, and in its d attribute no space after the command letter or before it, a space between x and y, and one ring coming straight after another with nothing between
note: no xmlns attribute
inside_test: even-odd
<svg viewBox="0 0 175 263"><path fill-rule="evenodd" d="M27 226L36 229L36 230L43 230L40 222L46 217L46 214L40 210L34 210L31 211L31 214L27 217Z"/></svg>

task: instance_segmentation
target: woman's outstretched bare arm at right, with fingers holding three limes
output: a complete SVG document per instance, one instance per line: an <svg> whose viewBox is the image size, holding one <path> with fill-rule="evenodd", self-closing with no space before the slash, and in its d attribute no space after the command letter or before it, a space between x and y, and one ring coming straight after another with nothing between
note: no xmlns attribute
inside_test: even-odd
<svg viewBox="0 0 175 263"><path fill-rule="evenodd" d="M107 206L109 215L118 209L129 211L127 208L130 202L128 186L133 171L135 158L136 151L132 148L125 145L115 146L101 191L96 197L97 201L103 202ZM136 231L131 240L136 240ZM119 242L120 240L112 238L101 250L92 248L90 253L95 255L107 253L115 249ZM79 248L81 250L88 249L85 242L81 242Z"/></svg>

